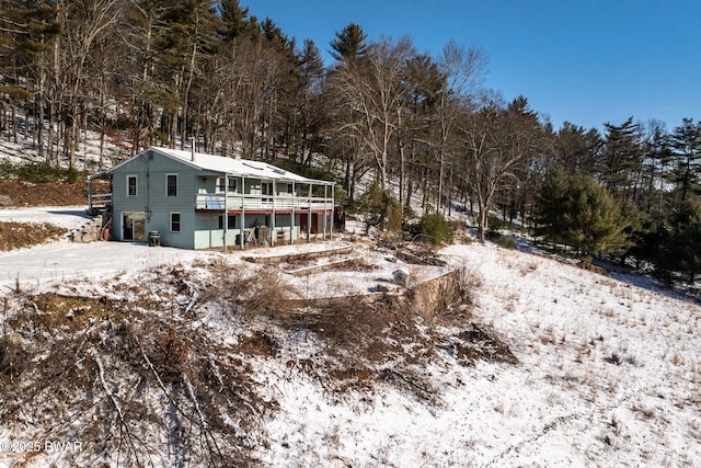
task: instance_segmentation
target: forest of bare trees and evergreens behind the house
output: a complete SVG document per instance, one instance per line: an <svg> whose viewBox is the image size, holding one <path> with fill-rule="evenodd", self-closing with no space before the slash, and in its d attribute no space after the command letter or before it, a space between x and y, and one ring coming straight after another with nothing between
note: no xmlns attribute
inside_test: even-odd
<svg viewBox="0 0 701 468"><path fill-rule="evenodd" d="M298 42L238 0L0 1L0 129L70 170L117 162L108 147L126 158L193 144L323 171L350 210L380 194L380 222L418 205L464 210L482 241L507 222L692 284L701 122L553 128L527 96L491 90L487 62L478 47L429 56L355 23L329 44ZM88 132L100 136L95 168L79 157Z"/></svg>

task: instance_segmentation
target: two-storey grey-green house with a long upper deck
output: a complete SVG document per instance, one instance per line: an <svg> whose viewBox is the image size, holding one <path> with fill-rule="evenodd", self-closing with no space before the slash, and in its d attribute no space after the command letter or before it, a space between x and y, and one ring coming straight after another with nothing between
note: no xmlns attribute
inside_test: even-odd
<svg viewBox="0 0 701 468"><path fill-rule="evenodd" d="M111 180L112 193L93 183ZM150 147L89 178L89 212L113 239L183 249L278 244L333 233L334 183L261 161Z"/></svg>

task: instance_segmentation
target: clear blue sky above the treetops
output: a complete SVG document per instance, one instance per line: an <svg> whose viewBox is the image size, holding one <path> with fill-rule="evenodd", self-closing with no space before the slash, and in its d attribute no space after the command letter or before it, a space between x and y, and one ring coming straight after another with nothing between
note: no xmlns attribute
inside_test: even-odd
<svg viewBox="0 0 701 468"><path fill-rule="evenodd" d="M701 119L701 0L241 0L326 65L350 22L368 39L410 35L437 56L451 38L489 56L485 85L525 95L555 128Z"/></svg>

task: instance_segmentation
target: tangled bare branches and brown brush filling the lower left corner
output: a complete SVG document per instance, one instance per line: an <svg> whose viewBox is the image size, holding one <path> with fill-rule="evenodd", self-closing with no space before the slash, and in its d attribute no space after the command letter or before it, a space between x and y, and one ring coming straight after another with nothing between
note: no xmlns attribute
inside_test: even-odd
<svg viewBox="0 0 701 468"><path fill-rule="evenodd" d="M14 304L0 343L0 421L42 427L37 441L90 445L67 463L246 466L264 443L260 421L276 403L256 393L250 364L205 333L107 298ZM159 459L163 444L173 458Z"/></svg>

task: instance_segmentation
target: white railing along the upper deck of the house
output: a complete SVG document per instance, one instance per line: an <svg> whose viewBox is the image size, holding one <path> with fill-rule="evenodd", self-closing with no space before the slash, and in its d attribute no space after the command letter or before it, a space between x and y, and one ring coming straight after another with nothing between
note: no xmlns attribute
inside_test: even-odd
<svg viewBox="0 0 701 468"><path fill-rule="evenodd" d="M272 195L228 195L225 194L198 194L195 205L196 209L264 209L264 210L288 210L288 209L332 209L333 198L323 196L276 196Z"/></svg>

